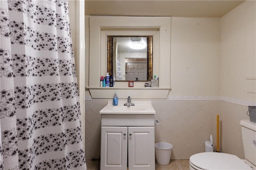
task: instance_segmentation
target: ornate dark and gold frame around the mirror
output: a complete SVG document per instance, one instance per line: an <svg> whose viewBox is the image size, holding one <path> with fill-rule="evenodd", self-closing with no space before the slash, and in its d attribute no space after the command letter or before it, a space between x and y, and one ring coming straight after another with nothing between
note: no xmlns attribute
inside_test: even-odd
<svg viewBox="0 0 256 170"><path fill-rule="evenodd" d="M114 37L146 37L147 38L147 81L153 78L153 36L108 36L107 68L109 75L113 73L113 39ZM128 80L116 80L128 81Z"/></svg>

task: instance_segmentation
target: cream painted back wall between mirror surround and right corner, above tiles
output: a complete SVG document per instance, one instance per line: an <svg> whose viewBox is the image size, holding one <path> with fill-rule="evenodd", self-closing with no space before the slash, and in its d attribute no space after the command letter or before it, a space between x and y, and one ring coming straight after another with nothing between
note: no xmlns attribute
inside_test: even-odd
<svg viewBox="0 0 256 170"><path fill-rule="evenodd" d="M220 95L220 18L171 21L169 95Z"/></svg>

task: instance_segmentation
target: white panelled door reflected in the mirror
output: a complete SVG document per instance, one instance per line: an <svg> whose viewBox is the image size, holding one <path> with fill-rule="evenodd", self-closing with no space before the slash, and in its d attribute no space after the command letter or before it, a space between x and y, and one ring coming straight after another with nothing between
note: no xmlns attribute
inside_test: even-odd
<svg viewBox="0 0 256 170"><path fill-rule="evenodd" d="M147 63L126 63L125 80L147 81Z"/></svg>

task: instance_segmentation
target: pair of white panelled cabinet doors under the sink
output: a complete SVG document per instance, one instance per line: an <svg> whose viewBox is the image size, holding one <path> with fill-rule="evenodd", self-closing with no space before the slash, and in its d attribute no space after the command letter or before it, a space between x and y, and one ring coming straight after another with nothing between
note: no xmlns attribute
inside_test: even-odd
<svg viewBox="0 0 256 170"><path fill-rule="evenodd" d="M128 160L127 160L128 156ZM101 127L101 169L154 170L154 127Z"/></svg>

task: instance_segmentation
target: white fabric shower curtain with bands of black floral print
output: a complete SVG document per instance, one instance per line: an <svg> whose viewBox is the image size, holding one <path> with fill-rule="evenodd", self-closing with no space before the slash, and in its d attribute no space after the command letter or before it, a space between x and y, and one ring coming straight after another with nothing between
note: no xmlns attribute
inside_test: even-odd
<svg viewBox="0 0 256 170"><path fill-rule="evenodd" d="M0 0L0 169L86 169L67 0Z"/></svg>

